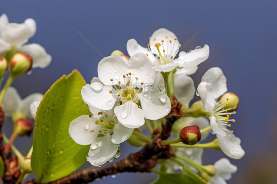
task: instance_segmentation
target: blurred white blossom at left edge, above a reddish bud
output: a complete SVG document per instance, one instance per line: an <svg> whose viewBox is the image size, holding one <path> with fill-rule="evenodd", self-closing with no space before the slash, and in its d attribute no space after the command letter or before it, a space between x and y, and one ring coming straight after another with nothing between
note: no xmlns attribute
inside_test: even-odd
<svg viewBox="0 0 277 184"><path fill-rule="evenodd" d="M18 118L30 118L35 119L32 115L30 105L34 101L41 101L43 94L33 93L24 99L21 99L17 90L13 87L9 87L6 94L3 97L4 112L7 117L12 117L15 121Z"/></svg>

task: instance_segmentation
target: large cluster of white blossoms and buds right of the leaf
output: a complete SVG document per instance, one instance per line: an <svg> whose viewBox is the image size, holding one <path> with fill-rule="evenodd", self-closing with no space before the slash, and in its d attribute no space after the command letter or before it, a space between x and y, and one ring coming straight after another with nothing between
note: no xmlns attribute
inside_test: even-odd
<svg viewBox="0 0 277 184"><path fill-rule="evenodd" d="M147 127L150 134L153 128L161 129L176 98L182 104L183 117L173 125L176 138L162 140L161 145L170 145L179 160L162 159L159 162L161 171L174 172L188 165L210 184L225 183L237 167L227 158L218 160L214 166L203 166L202 154L204 148L213 148L235 159L244 155L241 140L229 130L235 122L231 116L236 114L238 96L226 93L226 77L218 67L208 69L196 91L189 75L208 59L208 45L179 52L181 45L175 34L161 28L150 36L147 46L144 48L130 39L127 42L130 57L114 51L99 62L98 77L81 90L82 99L92 115L73 120L69 135L78 144L91 145L87 160L94 166L102 165L117 157L119 144L130 137L129 143L134 146L144 144L136 144L133 140L151 140L137 128ZM161 87L160 84L165 88L156 88ZM201 100L190 106L195 94ZM202 143L209 132L217 138ZM163 169L164 166L167 169Z"/></svg>

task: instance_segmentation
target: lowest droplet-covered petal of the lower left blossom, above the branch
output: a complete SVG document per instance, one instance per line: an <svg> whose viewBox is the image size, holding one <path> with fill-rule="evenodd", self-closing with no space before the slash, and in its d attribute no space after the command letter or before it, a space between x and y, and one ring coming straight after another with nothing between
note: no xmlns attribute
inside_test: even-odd
<svg viewBox="0 0 277 184"><path fill-rule="evenodd" d="M111 142L110 134L99 137L98 141L91 145L87 156L87 160L94 166L106 163L118 150L118 146Z"/></svg>

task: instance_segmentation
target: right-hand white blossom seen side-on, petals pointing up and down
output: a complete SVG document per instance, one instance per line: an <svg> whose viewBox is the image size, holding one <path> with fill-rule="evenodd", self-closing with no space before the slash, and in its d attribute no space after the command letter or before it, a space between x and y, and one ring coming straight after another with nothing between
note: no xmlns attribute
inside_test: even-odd
<svg viewBox="0 0 277 184"><path fill-rule="evenodd" d="M240 138L233 134L233 130L227 129L227 127L231 127L230 122L235 122L234 119L230 119L230 115L236 113L237 107L224 109L223 107L228 103L228 99L217 101L219 96L227 92L226 77L220 68L213 67L208 69L201 81L197 91L204 104L204 108L210 113L210 127L216 133L219 147L231 158L242 158L244 151L241 147Z"/></svg>

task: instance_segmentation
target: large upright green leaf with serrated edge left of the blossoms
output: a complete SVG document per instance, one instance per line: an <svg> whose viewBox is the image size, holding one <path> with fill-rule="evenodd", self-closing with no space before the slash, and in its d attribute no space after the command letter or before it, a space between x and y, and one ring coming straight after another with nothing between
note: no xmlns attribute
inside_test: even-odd
<svg viewBox="0 0 277 184"><path fill-rule="evenodd" d="M80 115L90 114L81 97L85 84L81 74L74 70L57 80L40 102L31 157L38 182L65 177L86 161L89 146L78 145L69 136L70 122Z"/></svg>

